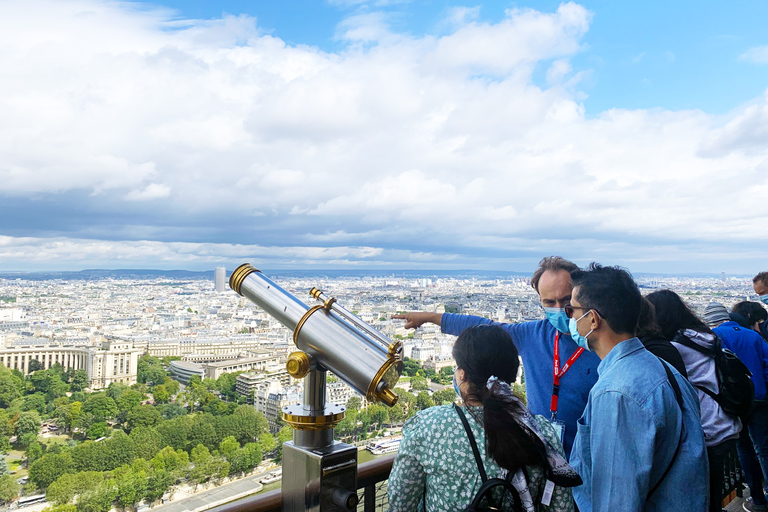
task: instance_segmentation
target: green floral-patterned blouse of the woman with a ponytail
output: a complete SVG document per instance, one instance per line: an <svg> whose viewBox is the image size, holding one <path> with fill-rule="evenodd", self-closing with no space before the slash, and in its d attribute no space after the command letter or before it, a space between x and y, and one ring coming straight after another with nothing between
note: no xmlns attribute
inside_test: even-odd
<svg viewBox="0 0 768 512"><path fill-rule="evenodd" d="M482 408L472 407L480 418ZM504 478L506 470L486 454L485 432L473 414L466 414L488 478ZM549 422L535 416L542 433L562 453ZM541 504L546 485L540 467L527 467L529 489L538 512L573 512L571 490L555 486L548 506ZM482 485L467 433L452 405L430 407L403 426L403 440L389 476L390 512L457 512L464 510Z"/></svg>

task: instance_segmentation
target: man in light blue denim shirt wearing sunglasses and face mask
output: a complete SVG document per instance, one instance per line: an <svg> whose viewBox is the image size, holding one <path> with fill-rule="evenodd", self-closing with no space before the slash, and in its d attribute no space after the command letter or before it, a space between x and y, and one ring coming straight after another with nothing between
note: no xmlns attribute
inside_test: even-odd
<svg viewBox="0 0 768 512"><path fill-rule="evenodd" d="M670 366L681 410L665 363L634 337L637 285L625 270L594 263L571 276L571 336L602 359L571 452L584 480L573 489L580 512L705 512L709 468L699 400Z"/></svg>

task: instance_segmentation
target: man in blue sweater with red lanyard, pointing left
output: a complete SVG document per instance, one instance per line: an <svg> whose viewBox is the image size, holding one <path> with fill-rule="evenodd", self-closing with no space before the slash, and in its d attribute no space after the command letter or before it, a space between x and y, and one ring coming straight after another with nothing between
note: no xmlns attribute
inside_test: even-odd
<svg viewBox="0 0 768 512"><path fill-rule="evenodd" d="M578 267L559 256L539 263L531 286L539 294L546 319L520 324L498 324L472 315L450 313L407 313L392 318L406 320L405 327L416 329L424 323L437 324L446 334L458 336L478 324L501 325L512 336L525 369L528 408L533 414L551 418L560 430L566 456L576 436L576 421L584 412L589 390L597 382L593 352L579 348L568 333L565 305L571 300L571 271Z"/></svg>

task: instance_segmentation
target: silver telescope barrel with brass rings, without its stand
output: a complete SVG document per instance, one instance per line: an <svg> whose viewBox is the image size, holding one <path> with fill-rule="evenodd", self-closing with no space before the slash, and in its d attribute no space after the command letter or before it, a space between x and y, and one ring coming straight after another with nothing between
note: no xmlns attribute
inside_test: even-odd
<svg viewBox="0 0 768 512"><path fill-rule="evenodd" d="M367 324L365 331L356 328L362 320L356 319L353 324L334 311L328 301L327 308L309 308L249 264L238 267L229 283L238 294L293 330L294 342L300 350L368 401L380 400L390 406L397 402L392 388L402 370L399 343L385 346L383 335L371 336L369 330L375 329ZM347 315L351 313L344 316Z"/></svg>

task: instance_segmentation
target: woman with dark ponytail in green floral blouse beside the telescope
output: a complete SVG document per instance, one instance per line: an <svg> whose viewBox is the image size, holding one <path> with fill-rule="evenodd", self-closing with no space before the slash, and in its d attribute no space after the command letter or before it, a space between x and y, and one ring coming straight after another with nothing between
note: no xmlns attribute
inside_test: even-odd
<svg viewBox="0 0 768 512"><path fill-rule="evenodd" d="M470 327L456 340L453 357L462 407L430 407L405 423L389 477L390 512L462 511L472 502L483 478L462 416L487 477L509 479L523 510L572 511L568 487L581 479L549 422L532 416L510 389L519 366L510 335L496 325ZM500 510L513 510L509 494Z"/></svg>

